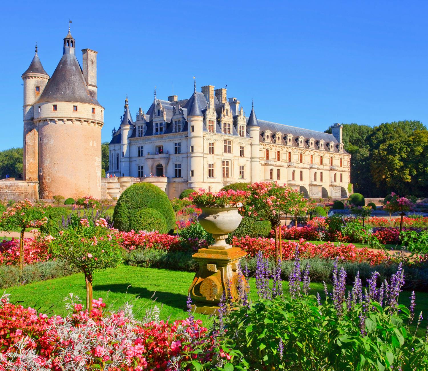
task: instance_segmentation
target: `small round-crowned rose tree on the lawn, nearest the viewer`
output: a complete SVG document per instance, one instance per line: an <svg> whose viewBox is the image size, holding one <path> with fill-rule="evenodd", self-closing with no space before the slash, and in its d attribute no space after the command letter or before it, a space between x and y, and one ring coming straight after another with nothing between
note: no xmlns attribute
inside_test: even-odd
<svg viewBox="0 0 428 371"><path fill-rule="evenodd" d="M52 253L67 261L74 272L83 272L86 282L86 309L92 310L92 280L96 269L116 267L122 254L115 233L107 228L103 218L89 223L73 217L65 231L60 231L52 242Z"/></svg>

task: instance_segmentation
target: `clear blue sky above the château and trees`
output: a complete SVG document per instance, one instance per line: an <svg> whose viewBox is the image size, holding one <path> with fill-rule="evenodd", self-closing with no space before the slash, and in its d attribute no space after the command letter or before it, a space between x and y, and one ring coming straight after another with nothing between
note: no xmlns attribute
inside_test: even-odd
<svg viewBox="0 0 428 371"><path fill-rule="evenodd" d="M334 122L428 124L427 1L8 1L0 14L0 150L22 146L22 80L39 45L51 75L67 21L98 51L103 141L158 98L227 84L257 117L324 131Z"/></svg>

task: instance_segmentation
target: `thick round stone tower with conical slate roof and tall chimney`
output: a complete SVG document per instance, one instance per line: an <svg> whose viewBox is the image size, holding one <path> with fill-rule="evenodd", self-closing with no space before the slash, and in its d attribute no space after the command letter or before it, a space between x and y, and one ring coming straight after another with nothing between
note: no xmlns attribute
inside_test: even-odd
<svg viewBox="0 0 428 371"><path fill-rule="evenodd" d="M101 199L104 107L97 101L97 52L82 50L82 70L75 49L76 41L68 30L63 41L62 58L33 103L32 120L38 135L37 173L42 199L56 195ZM26 96L25 86L24 92ZM24 141L24 153L26 145Z"/></svg>

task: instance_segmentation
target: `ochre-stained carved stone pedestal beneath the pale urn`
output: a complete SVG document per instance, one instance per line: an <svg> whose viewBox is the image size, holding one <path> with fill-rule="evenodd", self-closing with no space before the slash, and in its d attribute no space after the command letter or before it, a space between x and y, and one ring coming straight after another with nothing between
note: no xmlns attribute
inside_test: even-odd
<svg viewBox="0 0 428 371"><path fill-rule="evenodd" d="M238 262L247 255L239 247L215 249L199 249L193 258L199 263L189 292L192 298L192 311L207 315L217 312L223 292L227 296L230 281L232 302L239 300L238 293ZM243 287L247 286L242 277Z"/></svg>

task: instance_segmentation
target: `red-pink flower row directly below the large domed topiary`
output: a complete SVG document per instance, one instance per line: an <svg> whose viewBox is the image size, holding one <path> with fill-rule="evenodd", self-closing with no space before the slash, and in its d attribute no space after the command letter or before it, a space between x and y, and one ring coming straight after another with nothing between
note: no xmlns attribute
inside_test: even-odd
<svg viewBox="0 0 428 371"><path fill-rule="evenodd" d="M178 236L171 236L165 233L144 232L136 233L131 232L116 232L115 236L124 249L126 250L139 250L139 249L160 249L169 250L177 248L180 245Z"/></svg>

